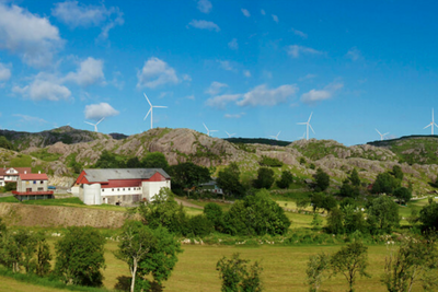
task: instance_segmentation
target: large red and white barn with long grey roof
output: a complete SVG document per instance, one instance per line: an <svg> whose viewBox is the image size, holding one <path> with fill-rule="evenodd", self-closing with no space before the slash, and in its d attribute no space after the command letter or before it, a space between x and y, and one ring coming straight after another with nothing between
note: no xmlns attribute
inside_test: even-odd
<svg viewBox="0 0 438 292"><path fill-rule="evenodd" d="M83 170L71 192L85 205L132 205L152 201L171 177L161 168Z"/></svg>

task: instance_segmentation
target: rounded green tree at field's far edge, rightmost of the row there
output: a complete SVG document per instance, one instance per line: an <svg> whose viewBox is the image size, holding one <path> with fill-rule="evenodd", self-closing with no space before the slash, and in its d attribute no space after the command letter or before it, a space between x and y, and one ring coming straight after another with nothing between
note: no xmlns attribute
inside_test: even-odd
<svg viewBox="0 0 438 292"><path fill-rule="evenodd" d="M399 206L387 196L372 200L368 206L367 222L374 233L391 233L400 224Z"/></svg>

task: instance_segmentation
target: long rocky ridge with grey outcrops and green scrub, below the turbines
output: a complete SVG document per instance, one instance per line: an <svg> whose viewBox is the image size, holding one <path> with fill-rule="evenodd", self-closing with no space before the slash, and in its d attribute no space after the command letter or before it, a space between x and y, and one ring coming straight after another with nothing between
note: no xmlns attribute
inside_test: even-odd
<svg viewBox="0 0 438 292"><path fill-rule="evenodd" d="M191 129L155 128L127 138L81 131L62 127L39 133L0 131L19 151L0 149L0 163L11 166L32 166L61 182L72 176L72 163L92 166L104 150L119 159L161 152L171 165L191 161L207 167L220 167L237 162L242 178L255 178L262 156L276 157L299 178L311 177L322 167L339 186L353 168L357 168L367 183L384 171L400 165L405 182L414 184L418 194L431 191L429 182L438 174L438 140L433 137L413 137L399 140L346 147L333 140L299 140L288 145L269 143L230 142L208 137ZM245 139L247 140L247 139ZM233 141L233 140L231 140ZM238 140L239 141L239 140ZM247 141L246 141L247 142ZM262 141L263 142L263 141ZM279 176L280 170L276 170ZM54 178L55 179L55 178Z"/></svg>

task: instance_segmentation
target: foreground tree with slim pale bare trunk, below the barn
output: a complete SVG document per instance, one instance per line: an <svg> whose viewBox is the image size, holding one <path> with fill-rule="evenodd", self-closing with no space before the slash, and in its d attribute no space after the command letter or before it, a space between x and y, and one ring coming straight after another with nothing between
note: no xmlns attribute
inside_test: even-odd
<svg viewBox="0 0 438 292"><path fill-rule="evenodd" d="M126 221L120 234L118 250L115 256L128 264L131 275L130 292L135 291L138 265L155 244L149 227L138 221Z"/></svg>

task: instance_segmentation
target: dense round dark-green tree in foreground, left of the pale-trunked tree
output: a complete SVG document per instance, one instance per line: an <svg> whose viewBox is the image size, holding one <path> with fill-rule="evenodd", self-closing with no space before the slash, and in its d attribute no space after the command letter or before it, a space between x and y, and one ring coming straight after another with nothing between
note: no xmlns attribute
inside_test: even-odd
<svg viewBox="0 0 438 292"><path fill-rule="evenodd" d="M65 283L101 287L105 237L93 227L68 227L55 245L55 273Z"/></svg>

